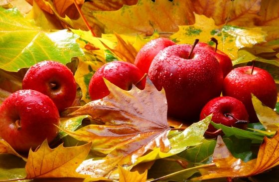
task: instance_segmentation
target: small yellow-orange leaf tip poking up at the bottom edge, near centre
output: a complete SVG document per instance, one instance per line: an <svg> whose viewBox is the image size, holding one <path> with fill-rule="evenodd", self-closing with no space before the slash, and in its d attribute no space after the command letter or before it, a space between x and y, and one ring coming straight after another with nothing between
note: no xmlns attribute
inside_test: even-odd
<svg viewBox="0 0 279 182"><path fill-rule="evenodd" d="M147 170L144 173L139 174L139 172L130 172L118 166L119 170L119 182L146 182L147 180Z"/></svg>

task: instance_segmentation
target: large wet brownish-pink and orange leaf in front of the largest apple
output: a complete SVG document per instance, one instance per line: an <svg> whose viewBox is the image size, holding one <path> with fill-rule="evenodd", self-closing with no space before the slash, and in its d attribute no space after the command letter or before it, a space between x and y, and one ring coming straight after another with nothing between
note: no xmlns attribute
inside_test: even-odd
<svg viewBox="0 0 279 182"><path fill-rule="evenodd" d="M144 90L133 86L125 91L105 80L110 95L89 102L73 115L88 114L102 125L88 125L70 136L93 142L92 149L108 158L123 156L121 164L133 164L147 150L155 147L168 152L166 98L149 82ZM125 104L124 104L125 103Z"/></svg>

